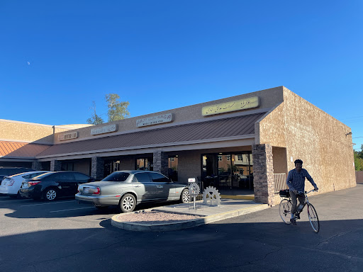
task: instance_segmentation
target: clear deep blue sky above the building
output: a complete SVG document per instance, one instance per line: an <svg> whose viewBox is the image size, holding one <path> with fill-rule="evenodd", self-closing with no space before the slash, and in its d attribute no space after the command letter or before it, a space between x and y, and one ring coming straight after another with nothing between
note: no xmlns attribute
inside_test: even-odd
<svg viewBox="0 0 363 272"><path fill-rule="evenodd" d="M86 123L284 85L363 144L363 1L0 0L0 118Z"/></svg>

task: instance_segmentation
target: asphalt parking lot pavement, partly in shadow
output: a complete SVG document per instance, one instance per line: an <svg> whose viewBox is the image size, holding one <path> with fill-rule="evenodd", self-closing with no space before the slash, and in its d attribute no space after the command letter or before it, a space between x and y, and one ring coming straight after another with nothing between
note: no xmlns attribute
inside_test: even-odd
<svg viewBox="0 0 363 272"><path fill-rule="evenodd" d="M111 225L117 210L72 198L44 203L0 197L0 271L363 271L363 185L311 196L286 225L278 206L208 225L133 232ZM140 207L140 209L152 207Z"/></svg>

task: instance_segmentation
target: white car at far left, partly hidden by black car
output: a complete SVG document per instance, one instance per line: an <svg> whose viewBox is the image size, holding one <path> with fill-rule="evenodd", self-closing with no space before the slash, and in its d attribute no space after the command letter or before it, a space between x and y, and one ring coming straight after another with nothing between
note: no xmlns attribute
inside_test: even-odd
<svg viewBox="0 0 363 272"><path fill-rule="evenodd" d="M48 172L49 171L32 171L12 176L5 176L3 181L1 181L0 194L17 198L19 195L19 189L21 188L21 183L23 183L25 179L32 179L35 178L35 176Z"/></svg>

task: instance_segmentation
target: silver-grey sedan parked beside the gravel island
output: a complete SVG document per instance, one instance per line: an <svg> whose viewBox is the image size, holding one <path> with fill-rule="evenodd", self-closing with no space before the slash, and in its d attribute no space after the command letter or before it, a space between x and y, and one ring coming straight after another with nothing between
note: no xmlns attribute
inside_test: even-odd
<svg viewBox="0 0 363 272"><path fill-rule="evenodd" d="M96 208L119 206L122 212L132 212L144 202L190 200L187 184L174 183L155 171L116 171L102 181L82 184L76 200L93 203Z"/></svg>

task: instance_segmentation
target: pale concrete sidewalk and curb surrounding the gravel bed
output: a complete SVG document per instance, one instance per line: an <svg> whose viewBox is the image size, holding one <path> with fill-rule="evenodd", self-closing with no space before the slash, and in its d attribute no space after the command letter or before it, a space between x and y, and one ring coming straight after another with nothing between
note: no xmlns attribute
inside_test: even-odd
<svg viewBox="0 0 363 272"><path fill-rule="evenodd" d="M175 222L170 222L170 220L168 220L167 222L159 221L152 222L151 224L150 222L124 222L122 220L123 215L128 215L128 213L125 213L113 215L113 217L111 218L111 224L114 227L133 231L164 232L197 227L200 225L208 224L210 222L216 222L218 220L236 217L239 215L246 215L247 213L264 210L267 208L269 208L267 204L255 203L252 200L222 199L220 205L218 206L205 205L200 200L196 202L196 210L194 210L194 203L168 205L145 210L199 216L199 218L193 220L176 220ZM135 214L137 212L133 213Z"/></svg>

